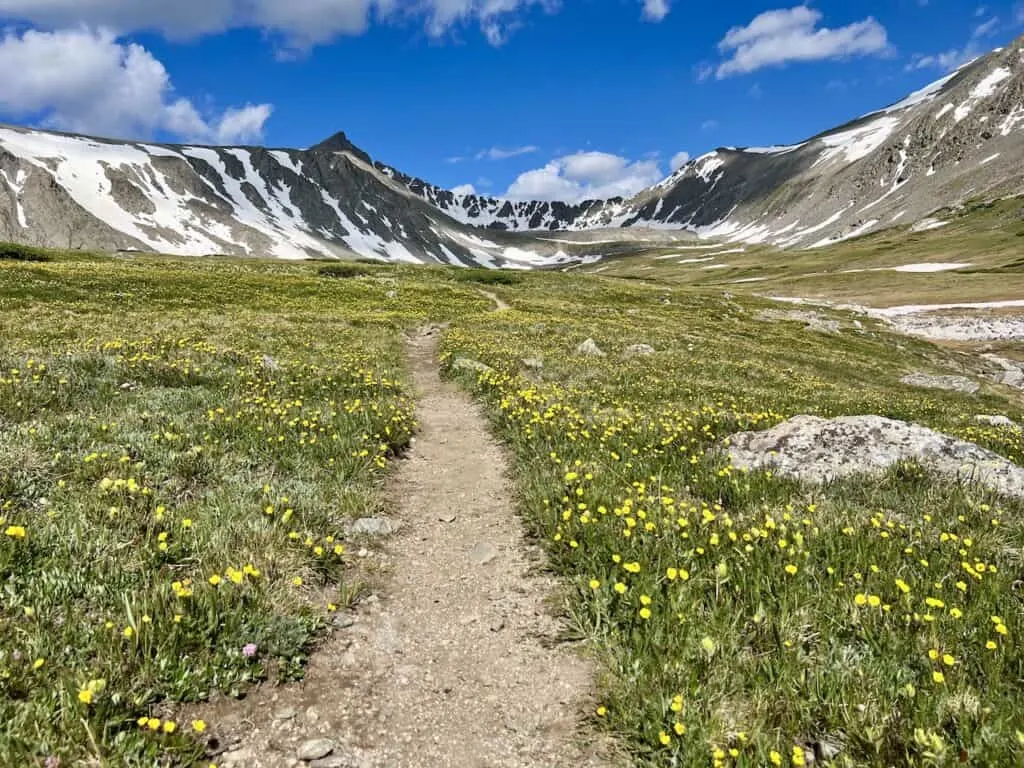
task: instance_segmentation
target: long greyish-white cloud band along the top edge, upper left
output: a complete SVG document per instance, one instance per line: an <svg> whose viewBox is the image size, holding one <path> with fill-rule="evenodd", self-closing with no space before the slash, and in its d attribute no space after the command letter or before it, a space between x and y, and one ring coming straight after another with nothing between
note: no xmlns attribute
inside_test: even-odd
<svg viewBox="0 0 1024 768"><path fill-rule="evenodd" d="M554 10L557 0L0 0L0 19L51 29L86 25L118 34L158 32L171 38L258 29L279 37L286 49L305 50L360 35L374 20L409 19L423 24L435 38L452 28L475 25L488 42L501 45L530 6Z"/></svg>

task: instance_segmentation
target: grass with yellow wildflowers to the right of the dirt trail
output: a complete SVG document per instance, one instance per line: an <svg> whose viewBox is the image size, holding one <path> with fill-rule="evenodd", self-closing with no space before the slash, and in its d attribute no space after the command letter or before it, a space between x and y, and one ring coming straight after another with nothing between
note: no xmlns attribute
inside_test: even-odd
<svg viewBox="0 0 1024 768"><path fill-rule="evenodd" d="M878 329L758 322L765 302L677 290L665 304L660 289L613 282L562 299L531 282L515 311L453 331L446 359L495 369L463 380L512 446L524 514L571 584L605 675L595 720L637 764L799 765L795 749L835 750L839 766L1024 756L1019 502L914 466L806 487L716 452L798 413L874 413L1021 461L1019 429L973 422L1018 416L1006 392L905 387L907 370L963 362ZM573 354L588 337L606 357ZM637 342L657 352L624 358ZM520 372L526 356L540 374Z"/></svg>

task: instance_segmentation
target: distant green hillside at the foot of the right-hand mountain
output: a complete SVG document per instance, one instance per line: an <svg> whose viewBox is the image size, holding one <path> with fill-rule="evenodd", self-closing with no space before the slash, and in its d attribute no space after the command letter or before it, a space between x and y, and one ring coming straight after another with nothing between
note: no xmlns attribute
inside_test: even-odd
<svg viewBox="0 0 1024 768"><path fill-rule="evenodd" d="M606 276L872 306L1024 296L1024 199L972 203L956 211L939 211L936 217L945 224L923 231L898 226L813 250L703 243L684 250L650 249L583 269ZM971 266L924 273L888 269L934 262Z"/></svg>

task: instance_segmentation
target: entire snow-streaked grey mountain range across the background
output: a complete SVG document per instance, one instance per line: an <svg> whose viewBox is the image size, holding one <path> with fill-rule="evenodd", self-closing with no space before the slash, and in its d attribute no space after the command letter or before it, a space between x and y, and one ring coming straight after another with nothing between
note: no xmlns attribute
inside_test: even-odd
<svg viewBox="0 0 1024 768"><path fill-rule="evenodd" d="M0 127L0 240L65 248L529 268L600 254L595 242L583 248L594 255L569 255L539 230L807 248L1021 193L1024 38L804 142L721 147L628 200L459 195L375 162L344 133L298 151Z"/></svg>

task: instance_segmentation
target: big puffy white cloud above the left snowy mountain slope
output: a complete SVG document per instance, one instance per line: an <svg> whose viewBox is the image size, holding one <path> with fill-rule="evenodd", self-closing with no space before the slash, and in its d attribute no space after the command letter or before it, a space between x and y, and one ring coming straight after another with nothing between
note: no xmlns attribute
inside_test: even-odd
<svg viewBox="0 0 1024 768"><path fill-rule="evenodd" d="M170 76L140 45L106 31L7 32L0 38L0 113L51 128L108 136L167 131L194 141L260 137L269 104L204 118L175 98Z"/></svg>

